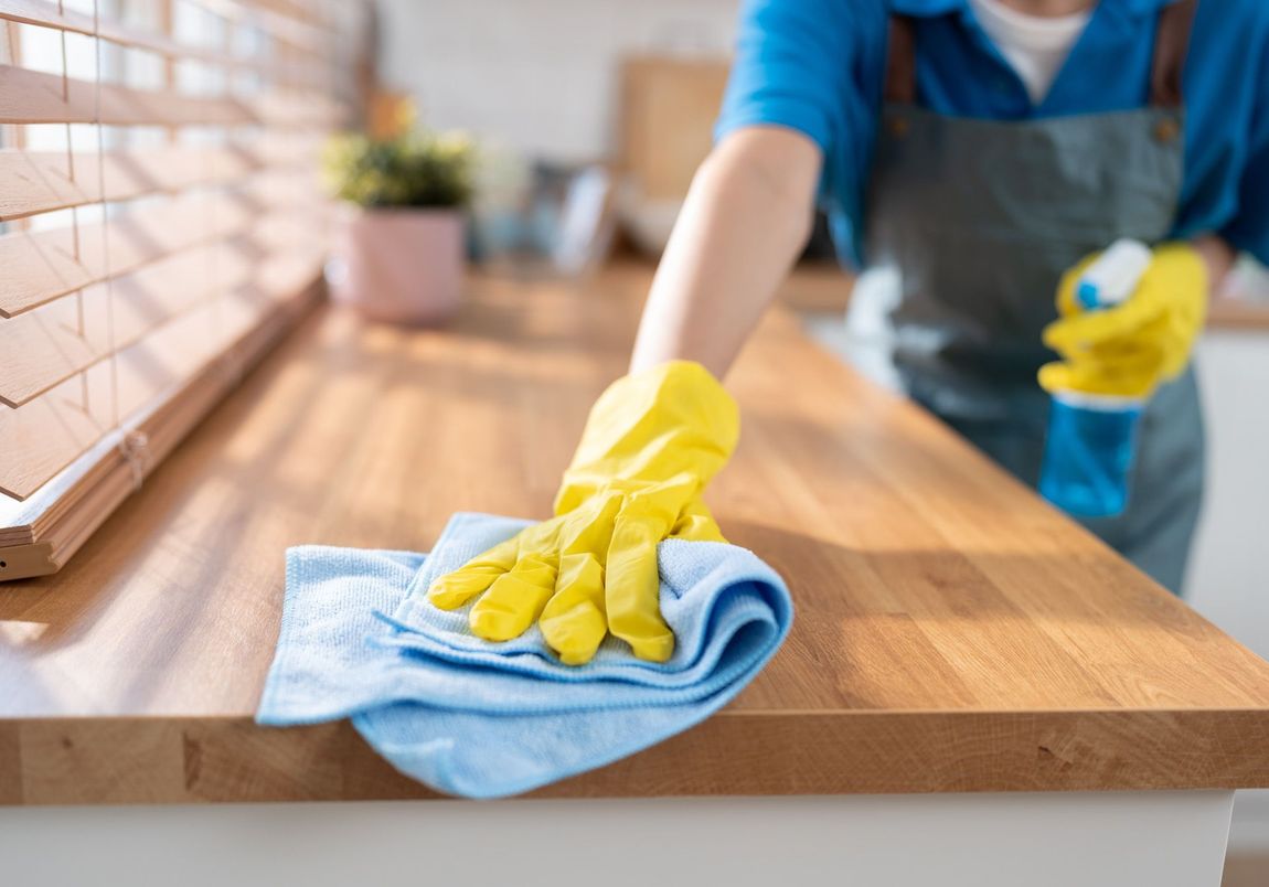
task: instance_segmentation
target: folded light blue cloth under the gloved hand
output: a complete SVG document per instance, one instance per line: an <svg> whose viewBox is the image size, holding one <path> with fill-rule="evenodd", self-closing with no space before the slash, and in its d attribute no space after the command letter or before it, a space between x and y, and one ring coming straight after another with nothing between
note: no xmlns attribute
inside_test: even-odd
<svg viewBox="0 0 1269 887"><path fill-rule="evenodd" d="M458 514L430 556L301 546L287 551L282 632L259 723L350 717L402 773L449 794L527 792L602 766L703 721L731 700L788 633L780 577L753 552L666 539L661 613L667 662L615 638L562 665L537 628L504 643L471 633L466 609L426 590L527 522Z"/></svg>

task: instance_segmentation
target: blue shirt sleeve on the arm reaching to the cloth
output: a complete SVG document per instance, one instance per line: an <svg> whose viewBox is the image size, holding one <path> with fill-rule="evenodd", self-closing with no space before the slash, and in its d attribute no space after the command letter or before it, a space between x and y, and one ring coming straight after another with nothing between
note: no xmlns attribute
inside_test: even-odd
<svg viewBox="0 0 1269 887"><path fill-rule="evenodd" d="M716 138L746 126L796 129L826 155L840 143L851 67L849 4L745 0Z"/></svg>

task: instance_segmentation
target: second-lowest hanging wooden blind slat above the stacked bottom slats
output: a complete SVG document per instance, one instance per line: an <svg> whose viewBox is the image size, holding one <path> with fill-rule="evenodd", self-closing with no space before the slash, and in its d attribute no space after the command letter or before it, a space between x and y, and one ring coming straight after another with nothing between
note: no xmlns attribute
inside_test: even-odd
<svg viewBox="0 0 1269 887"><path fill-rule="evenodd" d="M250 226L250 241L240 235L178 253L109 291L89 287L0 324L0 404L20 407L216 293L237 291L265 270L261 250L268 256L317 242L315 221L311 213L269 216Z"/></svg>

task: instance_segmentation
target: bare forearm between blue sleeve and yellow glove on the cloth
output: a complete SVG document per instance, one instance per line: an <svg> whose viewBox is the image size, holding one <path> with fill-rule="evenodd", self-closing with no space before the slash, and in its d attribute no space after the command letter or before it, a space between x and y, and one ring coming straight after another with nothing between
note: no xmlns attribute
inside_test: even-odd
<svg viewBox="0 0 1269 887"><path fill-rule="evenodd" d="M821 162L815 142L778 127L714 147L652 280L631 372L674 359L727 372L811 233Z"/></svg>

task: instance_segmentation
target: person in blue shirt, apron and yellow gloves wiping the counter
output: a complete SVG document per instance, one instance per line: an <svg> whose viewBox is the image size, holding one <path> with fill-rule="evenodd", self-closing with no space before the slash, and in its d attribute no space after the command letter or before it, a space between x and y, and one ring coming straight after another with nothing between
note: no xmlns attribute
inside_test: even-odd
<svg viewBox="0 0 1269 887"><path fill-rule="evenodd" d="M1046 388L1152 395L1128 508L1088 524L1180 590L1204 471L1189 353L1235 253L1269 260L1269 4L746 0L631 374L593 410L556 516L438 580L438 605L475 599L490 640L538 622L567 662L609 632L671 655L656 544L722 538L700 500L739 431L717 379L816 200L849 259L900 274L906 392L1024 481ZM1081 312L1072 274L1121 237L1154 246L1148 269Z"/></svg>

